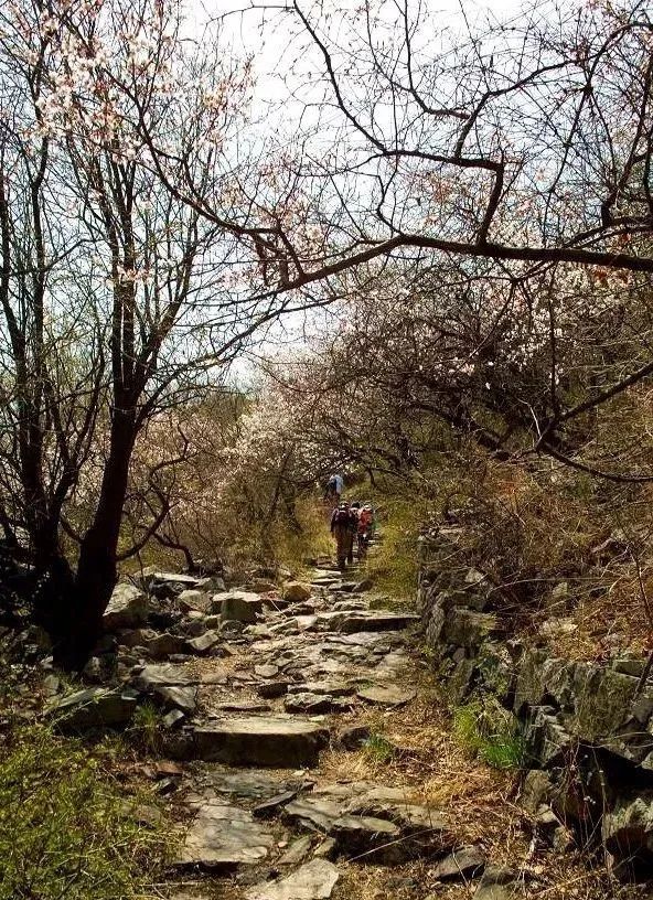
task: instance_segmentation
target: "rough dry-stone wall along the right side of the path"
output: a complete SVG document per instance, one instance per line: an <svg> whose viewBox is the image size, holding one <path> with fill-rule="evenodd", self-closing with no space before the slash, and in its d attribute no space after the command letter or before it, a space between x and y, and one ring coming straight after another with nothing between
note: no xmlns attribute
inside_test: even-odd
<svg viewBox="0 0 653 900"><path fill-rule="evenodd" d="M600 844L615 865L653 867L653 678L644 658L572 662L518 640L501 596L464 564L461 533L420 539L418 611L451 706L511 710L527 771L522 803L554 845Z"/></svg>

